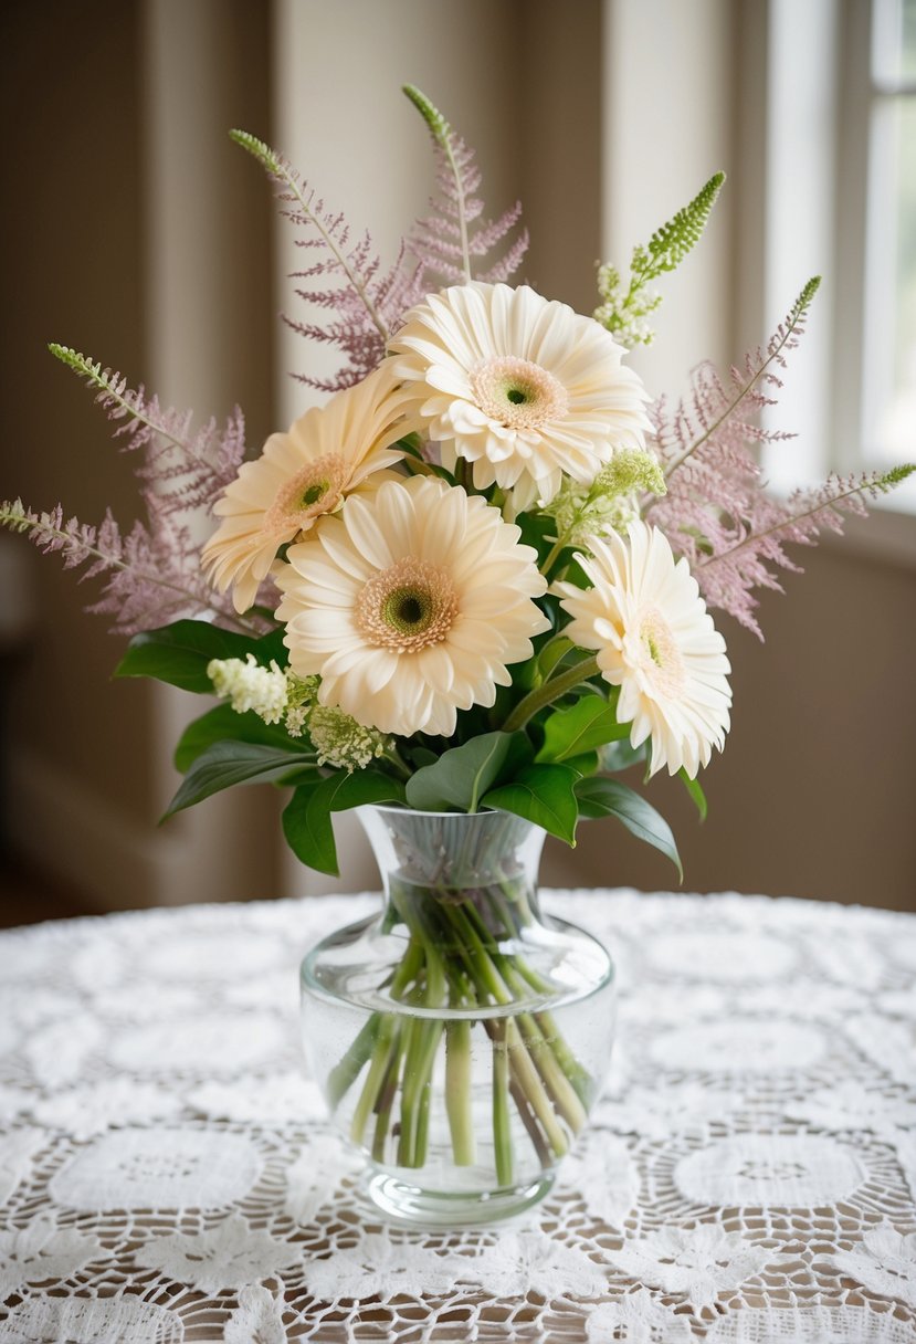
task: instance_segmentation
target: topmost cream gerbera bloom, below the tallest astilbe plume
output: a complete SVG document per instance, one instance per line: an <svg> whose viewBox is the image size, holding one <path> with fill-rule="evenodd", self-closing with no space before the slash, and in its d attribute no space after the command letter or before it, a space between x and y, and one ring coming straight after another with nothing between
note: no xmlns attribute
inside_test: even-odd
<svg viewBox="0 0 916 1344"><path fill-rule="evenodd" d="M411 309L395 374L443 465L512 489L516 511L588 484L618 445L642 448L647 395L622 345L591 317L521 285L455 285Z"/></svg>

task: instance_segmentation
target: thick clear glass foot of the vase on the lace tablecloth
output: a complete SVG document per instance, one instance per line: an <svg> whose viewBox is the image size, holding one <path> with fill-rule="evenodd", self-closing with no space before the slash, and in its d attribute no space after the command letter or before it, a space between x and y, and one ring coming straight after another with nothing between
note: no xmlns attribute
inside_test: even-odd
<svg viewBox="0 0 916 1344"><path fill-rule="evenodd" d="M385 1216L411 1227L482 1227L516 1218L537 1204L553 1185L553 1172L533 1184L486 1192L422 1189L388 1172L368 1171L363 1189Z"/></svg>

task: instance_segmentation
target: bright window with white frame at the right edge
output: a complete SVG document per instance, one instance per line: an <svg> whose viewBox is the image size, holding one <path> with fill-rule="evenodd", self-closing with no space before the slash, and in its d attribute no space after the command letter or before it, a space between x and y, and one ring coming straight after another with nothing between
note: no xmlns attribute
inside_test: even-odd
<svg viewBox="0 0 916 1344"><path fill-rule="evenodd" d="M771 423L776 489L916 461L916 0L771 0L767 332L823 276ZM882 500L916 513L916 481Z"/></svg>

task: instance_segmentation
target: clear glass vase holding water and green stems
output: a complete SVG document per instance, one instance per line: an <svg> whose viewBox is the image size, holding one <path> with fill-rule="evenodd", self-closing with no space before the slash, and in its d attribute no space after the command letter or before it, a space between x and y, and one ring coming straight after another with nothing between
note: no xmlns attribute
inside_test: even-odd
<svg viewBox="0 0 916 1344"><path fill-rule="evenodd" d="M614 966L543 918L544 832L504 812L361 808L380 915L302 962L313 1077L392 1218L459 1227L543 1199L600 1091Z"/></svg>

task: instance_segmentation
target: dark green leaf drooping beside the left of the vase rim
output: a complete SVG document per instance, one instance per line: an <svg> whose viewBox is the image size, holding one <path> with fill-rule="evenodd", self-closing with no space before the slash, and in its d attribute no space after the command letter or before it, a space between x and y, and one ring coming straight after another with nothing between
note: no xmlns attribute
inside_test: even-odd
<svg viewBox="0 0 916 1344"><path fill-rule="evenodd" d="M340 868L330 814L368 802L403 801L404 786L380 770L332 774L294 790L283 809L283 836L301 863L337 878Z"/></svg>

